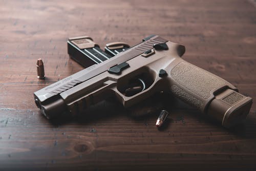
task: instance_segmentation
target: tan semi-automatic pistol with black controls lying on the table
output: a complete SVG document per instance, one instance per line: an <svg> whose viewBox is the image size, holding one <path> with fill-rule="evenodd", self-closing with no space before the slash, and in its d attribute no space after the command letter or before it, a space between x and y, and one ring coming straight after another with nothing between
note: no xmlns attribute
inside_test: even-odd
<svg viewBox="0 0 256 171"><path fill-rule="evenodd" d="M83 49L95 44L90 37L83 37L73 46ZM249 113L252 98L238 93L226 80L183 60L184 52L183 45L157 35L148 36L116 56L34 92L35 103L50 119L63 113L83 113L90 105L109 97L127 108L163 91L224 127L241 123Z"/></svg>

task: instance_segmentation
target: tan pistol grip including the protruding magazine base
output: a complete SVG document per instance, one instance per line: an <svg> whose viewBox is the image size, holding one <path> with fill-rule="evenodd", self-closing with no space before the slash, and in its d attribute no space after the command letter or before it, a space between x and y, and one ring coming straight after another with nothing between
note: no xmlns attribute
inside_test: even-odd
<svg viewBox="0 0 256 171"><path fill-rule="evenodd" d="M170 91L224 127L240 123L249 113L252 99L226 80L181 61L170 71Z"/></svg>

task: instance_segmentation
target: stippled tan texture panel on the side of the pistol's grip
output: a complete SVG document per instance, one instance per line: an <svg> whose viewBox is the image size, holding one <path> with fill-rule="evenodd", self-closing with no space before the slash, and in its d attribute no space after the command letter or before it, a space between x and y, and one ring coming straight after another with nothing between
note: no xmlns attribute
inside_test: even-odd
<svg viewBox="0 0 256 171"><path fill-rule="evenodd" d="M224 86L225 81L214 74L182 61L173 68L170 75L182 88L208 99L212 90Z"/></svg>

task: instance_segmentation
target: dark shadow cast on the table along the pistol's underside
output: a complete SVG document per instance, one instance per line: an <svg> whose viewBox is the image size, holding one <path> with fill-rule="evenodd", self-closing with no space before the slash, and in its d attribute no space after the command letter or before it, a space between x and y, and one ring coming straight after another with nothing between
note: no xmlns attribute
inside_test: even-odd
<svg viewBox="0 0 256 171"><path fill-rule="evenodd" d="M185 110L184 110L185 109ZM91 106L83 113L71 118L70 116L63 115L61 118L51 120L53 125L67 124L70 122L77 122L79 124L88 124L99 120L115 119L117 115L127 115L135 120L147 120L149 117L157 118L161 110L167 111L181 111L182 113L189 113L191 117L195 117L197 120L207 122L213 127L216 126L223 131L227 131L230 134L238 135L241 138L256 138L256 117L255 111L252 110L248 115L245 123L225 129L221 124L215 120L212 120L205 115L200 114L196 109L191 108L182 101L170 97L168 94L157 94L152 98L148 98L132 108L124 109L122 104L117 103L113 99L104 100ZM180 112L179 112L180 113ZM172 118L172 117L169 117ZM167 119L159 131L164 131L173 122L174 119Z"/></svg>

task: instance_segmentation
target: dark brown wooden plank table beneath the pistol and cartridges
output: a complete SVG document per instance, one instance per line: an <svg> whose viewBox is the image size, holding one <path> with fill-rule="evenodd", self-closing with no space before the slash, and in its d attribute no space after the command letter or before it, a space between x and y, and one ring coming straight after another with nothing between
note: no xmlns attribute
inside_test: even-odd
<svg viewBox="0 0 256 171"><path fill-rule="evenodd" d="M256 165L256 103L226 130L170 101L169 123L106 106L90 119L52 123L33 92L82 70L68 37L135 45L158 34L186 46L184 59L256 99L255 1L0 1L0 170L245 170ZM46 79L37 79L42 58Z"/></svg>

